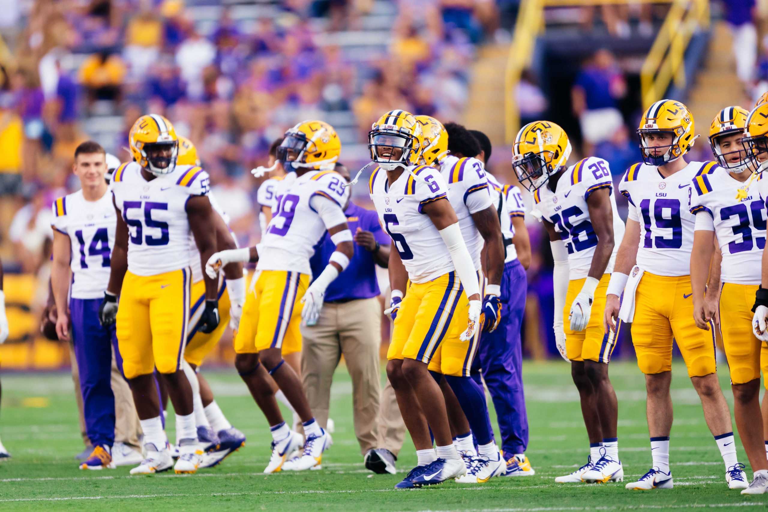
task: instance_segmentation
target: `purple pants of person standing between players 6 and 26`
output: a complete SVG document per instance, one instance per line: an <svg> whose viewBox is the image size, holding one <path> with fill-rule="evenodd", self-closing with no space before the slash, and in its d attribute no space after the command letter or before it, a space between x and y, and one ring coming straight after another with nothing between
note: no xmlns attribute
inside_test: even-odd
<svg viewBox="0 0 768 512"><path fill-rule="evenodd" d="M506 263L502 276L502 319L494 332L483 333L475 358L491 392L506 457L525 453L528 447L520 339L527 289L525 269L520 262L515 259ZM477 372L474 375L478 376Z"/></svg>

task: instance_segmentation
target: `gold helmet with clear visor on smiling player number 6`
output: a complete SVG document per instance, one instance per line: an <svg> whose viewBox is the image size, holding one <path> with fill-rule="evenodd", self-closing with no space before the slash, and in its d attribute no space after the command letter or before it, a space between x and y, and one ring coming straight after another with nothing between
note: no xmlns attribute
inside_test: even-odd
<svg viewBox="0 0 768 512"><path fill-rule="evenodd" d="M368 147L371 160L383 170L419 164L424 148L422 124L409 112L389 111L372 125Z"/></svg>

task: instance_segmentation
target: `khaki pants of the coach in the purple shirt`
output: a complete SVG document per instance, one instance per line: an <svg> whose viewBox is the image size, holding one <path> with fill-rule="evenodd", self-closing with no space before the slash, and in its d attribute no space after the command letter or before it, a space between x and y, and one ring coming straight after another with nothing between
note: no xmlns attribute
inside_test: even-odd
<svg viewBox="0 0 768 512"><path fill-rule="evenodd" d="M325 428L333 372L344 355L352 377L355 435L361 454L377 446L381 370L381 306L379 299L359 299L323 305L316 325L301 326L301 372L313 414Z"/></svg>

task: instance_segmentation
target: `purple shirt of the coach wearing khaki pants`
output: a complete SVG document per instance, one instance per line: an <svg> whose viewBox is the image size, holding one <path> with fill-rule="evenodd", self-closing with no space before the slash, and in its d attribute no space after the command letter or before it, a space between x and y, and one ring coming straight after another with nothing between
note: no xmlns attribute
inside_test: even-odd
<svg viewBox="0 0 768 512"><path fill-rule="evenodd" d="M353 235L359 227L363 231L373 233L376 241L382 246L388 246L391 243L389 236L384 233L381 224L379 224L379 216L376 212L366 210L362 206L350 202L344 214L346 215L346 223ZM315 254L310 259L313 276L319 276L323 272L323 269L328 265L331 253L335 250L336 244L333 243L326 231L323 238L315 246ZM380 293L373 253L355 244L355 254L352 259L349 259L349 266L326 289L325 302L370 299L379 296Z"/></svg>

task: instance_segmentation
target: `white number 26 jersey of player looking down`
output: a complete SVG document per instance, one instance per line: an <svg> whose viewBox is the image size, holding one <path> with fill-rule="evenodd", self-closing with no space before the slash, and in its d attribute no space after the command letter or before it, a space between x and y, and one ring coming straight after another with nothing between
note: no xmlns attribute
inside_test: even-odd
<svg viewBox="0 0 768 512"><path fill-rule="evenodd" d="M592 228L587 200L591 193L602 188L610 191L614 217L614 251L605 273L614 271L616 253L624 238L624 223L616 209L613 187L608 163L602 158L587 157L562 171L554 192L545 184L533 193L535 208L554 225L568 249L569 279L587 277L592 265L598 236Z"/></svg>

